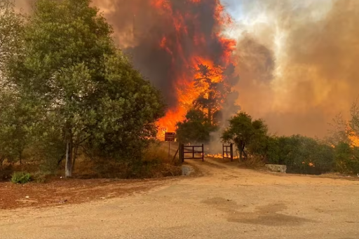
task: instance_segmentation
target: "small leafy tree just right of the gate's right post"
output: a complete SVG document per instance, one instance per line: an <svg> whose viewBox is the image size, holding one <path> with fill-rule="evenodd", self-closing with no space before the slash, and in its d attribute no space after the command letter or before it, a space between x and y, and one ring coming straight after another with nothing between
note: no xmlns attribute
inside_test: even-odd
<svg viewBox="0 0 359 239"><path fill-rule="evenodd" d="M234 143L240 153L240 160L248 158L246 149L253 153L262 150L262 142L266 139L268 129L262 120L252 121L252 117L245 112L233 116L229 120L229 128L224 130L222 140Z"/></svg>

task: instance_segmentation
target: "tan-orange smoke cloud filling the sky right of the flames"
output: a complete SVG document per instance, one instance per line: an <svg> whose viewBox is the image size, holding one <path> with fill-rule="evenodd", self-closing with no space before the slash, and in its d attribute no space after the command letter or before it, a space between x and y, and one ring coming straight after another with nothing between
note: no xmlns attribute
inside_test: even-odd
<svg viewBox="0 0 359 239"><path fill-rule="evenodd" d="M359 1L242 1L243 110L278 135L323 136L359 94ZM251 21L248 21L251 20Z"/></svg>

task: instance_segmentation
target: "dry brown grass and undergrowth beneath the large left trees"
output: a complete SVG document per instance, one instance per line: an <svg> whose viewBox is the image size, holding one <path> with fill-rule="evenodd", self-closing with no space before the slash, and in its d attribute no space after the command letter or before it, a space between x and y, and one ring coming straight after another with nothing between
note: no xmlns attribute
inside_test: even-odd
<svg viewBox="0 0 359 239"><path fill-rule="evenodd" d="M174 153L173 153L174 154ZM152 144L143 152L143 158L138 161L114 161L109 159L90 160L83 154L79 154L74 165L74 178L78 179L149 179L158 177L172 177L182 174L178 160L173 161L173 155L168 156L168 148L161 143ZM0 181L11 179L13 172L29 172L39 181L48 178L48 172L41 170L41 165L36 161L24 161L22 165L4 163L0 170ZM53 176L64 176L65 161L57 167ZM38 177L39 176L39 177Z"/></svg>

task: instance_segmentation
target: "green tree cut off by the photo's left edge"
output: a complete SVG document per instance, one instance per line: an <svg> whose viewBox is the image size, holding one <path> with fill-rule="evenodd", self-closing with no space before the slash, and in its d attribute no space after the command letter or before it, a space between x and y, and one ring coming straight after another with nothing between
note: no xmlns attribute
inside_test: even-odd
<svg viewBox="0 0 359 239"><path fill-rule="evenodd" d="M24 18L14 10L14 2L0 0L0 166L4 159L18 161L28 141L28 108L20 94L8 83L8 62L20 52Z"/></svg>

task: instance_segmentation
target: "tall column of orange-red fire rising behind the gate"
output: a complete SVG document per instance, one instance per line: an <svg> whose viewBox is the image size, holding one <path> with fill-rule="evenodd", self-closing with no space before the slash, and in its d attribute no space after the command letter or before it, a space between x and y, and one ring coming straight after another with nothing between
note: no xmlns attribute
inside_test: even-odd
<svg viewBox="0 0 359 239"><path fill-rule="evenodd" d="M174 4L175 1L171 0L151 0L151 7L156 8L166 24L172 26L172 32L163 33L158 48L170 56L172 67L169 71L174 82L172 94L177 99L158 121L158 137L163 137L165 131L175 131L176 123L184 120L199 95L208 92L208 82L201 80L196 84L194 81L201 78L198 73L200 67L208 67L212 83L226 81L224 69L233 64L231 55L236 48L236 41L226 39L221 33L224 26L231 23L231 18L224 12L219 0L182 1L181 4ZM194 11L199 8L211 9L212 23L203 20L202 11ZM212 29L205 29L207 24Z"/></svg>

